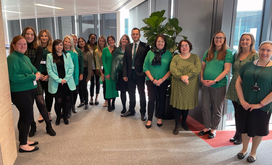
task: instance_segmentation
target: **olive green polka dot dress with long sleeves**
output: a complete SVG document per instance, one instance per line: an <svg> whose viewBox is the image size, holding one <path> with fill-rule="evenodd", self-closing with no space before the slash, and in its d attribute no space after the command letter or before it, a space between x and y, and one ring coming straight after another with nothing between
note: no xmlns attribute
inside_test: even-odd
<svg viewBox="0 0 272 165"><path fill-rule="evenodd" d="M170 64L172 73L170 104L178 109L193 109L198 106L198 74L201 71L201 62L196 54L183 59L175 55ZM181 76L189 77L189 84L181 80Z"/></svg>

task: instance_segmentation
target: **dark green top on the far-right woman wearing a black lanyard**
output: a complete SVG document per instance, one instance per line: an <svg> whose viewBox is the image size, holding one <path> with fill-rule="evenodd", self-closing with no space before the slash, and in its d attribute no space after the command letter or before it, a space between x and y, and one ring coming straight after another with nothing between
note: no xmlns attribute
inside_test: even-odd
<svg viewBox="0 0 272 165"><path fill-rule="evenodd" d="M253 63L254 61L247 62L244 66L239 70L240 77L242 79L242 89L244 94L244 100L248 102L248 104L259 104L264 98L272 92L272 66L270 67L261 67L257 66ZM264 70L259 74L257 80L257 86L260 87L260 91L251 90L251 86L255 85L253 72L255 71L255 78L257 79L257 75L264 68ZM240 103L239 99L237 101ZM272 112L271 110L272 102L261 107L262 111Z"/></svg>

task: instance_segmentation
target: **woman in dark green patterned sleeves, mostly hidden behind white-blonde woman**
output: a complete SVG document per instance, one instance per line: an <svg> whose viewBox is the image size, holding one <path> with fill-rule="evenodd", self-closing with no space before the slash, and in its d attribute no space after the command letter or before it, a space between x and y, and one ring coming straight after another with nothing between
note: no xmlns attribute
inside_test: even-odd
<svg viewBox="0 0 272 165"><path fill-rule="evenodd" d="M73 38L74 41L74 47L76 49L77 52L77 58L78 58L78 66L79 66L79 81L81 81L83 79L83 53L82 51L76 47L76 44L78 42L78 38L77 35L71 34L70 35ZM77 99L77 95L78 95L78 85L76 86L76 94L73 94L73 101L71 102L71 106L70 106L70 111L68 113L68 117L71 116L71 111L73 111L73 113L76 113L76 99ZM88 101L87 101L88 103ZM87 104L88 105L88 104ZM88 107L85 107L85 109L88 109Z"/></svg>

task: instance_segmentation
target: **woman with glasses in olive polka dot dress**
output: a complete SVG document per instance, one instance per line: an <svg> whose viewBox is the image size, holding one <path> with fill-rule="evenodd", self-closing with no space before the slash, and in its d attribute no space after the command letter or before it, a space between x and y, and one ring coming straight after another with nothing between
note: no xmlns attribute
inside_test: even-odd
<svg viewBox="0 0 272 165"><path fill-rule="evenodd" d="M189 109L198 106L198 74L201 71L201 62L196 54L190 53L192 44L190 41L181 40L178 45L179 53L171 61L172 87L170 104L174 108L176 126L174 135L179 134L180 118L184 130L189 130L186 119Z"/></svg>

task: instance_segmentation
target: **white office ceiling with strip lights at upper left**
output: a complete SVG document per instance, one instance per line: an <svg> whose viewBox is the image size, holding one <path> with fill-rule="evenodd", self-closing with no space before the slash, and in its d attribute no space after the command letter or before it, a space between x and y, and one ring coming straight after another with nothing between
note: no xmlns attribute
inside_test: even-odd
<svg viewBox="0 0 272 165"><path fill-rule="evenodd" d="M1 0L2 10L22 12L2 12L3 20L19 18L41 18L65 15L115 12L128 0ZM144 0L132 0L124 8L131 9ZM33 4L49 5L64 9L47 8Z"/></svg>

